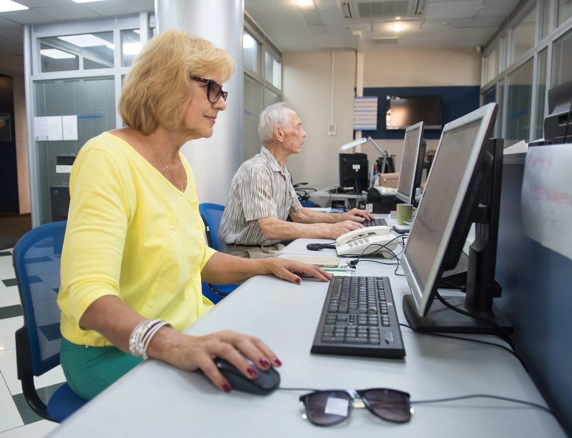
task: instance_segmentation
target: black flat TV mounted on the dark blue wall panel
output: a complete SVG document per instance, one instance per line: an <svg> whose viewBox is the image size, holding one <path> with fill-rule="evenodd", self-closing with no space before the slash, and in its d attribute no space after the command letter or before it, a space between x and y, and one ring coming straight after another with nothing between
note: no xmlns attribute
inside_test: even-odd
<svg viewBox="0 0 572 438"><path fill-rule="evenodd" d="M386 129L407 129L419 122L426 130L443 128L443 96L387 96Z"/></svg>

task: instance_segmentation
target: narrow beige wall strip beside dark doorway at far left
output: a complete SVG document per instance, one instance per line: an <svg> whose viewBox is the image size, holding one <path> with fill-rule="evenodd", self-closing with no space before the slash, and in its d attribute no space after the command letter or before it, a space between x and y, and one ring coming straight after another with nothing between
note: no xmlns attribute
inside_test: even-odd
<svg viewBox="0 0 572 438"><path fill-rule="evenodd" d="M14 83L14 124L16 138L16 166L18 172L18 198L20 214L30 213L30 180L28 177L28 142L26 130L26 95L24 74L0 69L10 75Z"/></svg>

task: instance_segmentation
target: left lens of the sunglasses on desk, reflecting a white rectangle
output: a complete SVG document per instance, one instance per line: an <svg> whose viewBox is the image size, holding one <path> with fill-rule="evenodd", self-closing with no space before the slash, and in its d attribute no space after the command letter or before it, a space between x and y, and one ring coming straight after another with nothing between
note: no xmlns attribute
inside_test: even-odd
<svg viewBox="0 0 572 438"><path fill-rule="evenodd" d="M320 426L329 426L347 419L351 412L352 398L347 392L318 392L306 397L309 420Z"/></svg>

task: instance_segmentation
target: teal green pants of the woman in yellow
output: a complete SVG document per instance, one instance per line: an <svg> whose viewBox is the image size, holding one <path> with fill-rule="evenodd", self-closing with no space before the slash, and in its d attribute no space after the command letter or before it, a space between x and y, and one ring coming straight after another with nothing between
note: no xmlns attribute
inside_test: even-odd
<svg viewBox="0 0 572 438"><path fill-rule="evenodd" d="M62 338L59 360L67 384L85 400L93 399L142 361L116 347L86 347L65 338Z"/></svg>

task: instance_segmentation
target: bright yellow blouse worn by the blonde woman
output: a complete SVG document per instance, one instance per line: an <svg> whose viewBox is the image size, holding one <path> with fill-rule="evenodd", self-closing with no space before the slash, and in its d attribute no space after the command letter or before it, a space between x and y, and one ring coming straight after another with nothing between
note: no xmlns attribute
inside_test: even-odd
<svg viewBox="0 0 572 438"><path fill-rule="evenodd" d="M205 244L192 170L182 193L128 143L104 132L80 150L70 175L63 241L61 332L74 344L113 345L80 328L93 301L115 295L149 319L181 331L212 302L201 270L215 253Z"/></svg>

